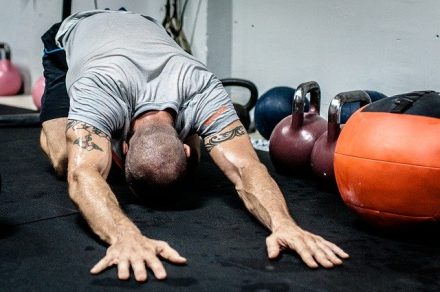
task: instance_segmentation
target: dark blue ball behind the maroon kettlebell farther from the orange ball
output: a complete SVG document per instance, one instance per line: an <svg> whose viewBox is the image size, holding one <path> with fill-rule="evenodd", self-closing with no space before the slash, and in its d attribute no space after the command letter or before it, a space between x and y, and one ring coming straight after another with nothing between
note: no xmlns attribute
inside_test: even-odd
<svg viewBox="0 0 440 292"><path fill-rule="evenodd" d="M255 105L255 128L265 139L269 140L275 126L285 117L292 114L295 89L278 86L260 96ZM308 111L309 101L306 99L304 111Z"/></svg>

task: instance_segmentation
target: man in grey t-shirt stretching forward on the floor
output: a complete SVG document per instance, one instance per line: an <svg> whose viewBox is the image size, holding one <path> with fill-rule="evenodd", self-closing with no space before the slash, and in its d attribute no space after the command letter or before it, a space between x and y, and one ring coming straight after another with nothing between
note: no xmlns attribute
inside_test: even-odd
<svg viewBox="0 0 440 292"><path fill-rule="evenodd" d="M156 21L131 12L81 12L42 39L41 146L55 172L67 174L69 196L92 230L109 244L91 273L115 265L119 279L128 279L130 268L137 281L147 279L147 268L165 279L160 258L186 262L166 242L141 234L106 178L113 153L132 191L148 200L185 180L190 161L200 157L199 137L246 208L271 231L269 258L290 249L311 268L330 268L348 257L296 225L221 82Z"/></svg>

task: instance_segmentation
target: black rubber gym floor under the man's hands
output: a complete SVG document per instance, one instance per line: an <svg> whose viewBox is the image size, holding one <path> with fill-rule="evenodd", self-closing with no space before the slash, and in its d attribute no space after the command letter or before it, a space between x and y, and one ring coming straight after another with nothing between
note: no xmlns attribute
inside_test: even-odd
<svg viewBox="0 0 440 292"><path fill-rule="evenodd" d="M0 114L13 112L0 106ZM114 268L92 276L106 246L52 174L38 139L38 127L0 127L1 291L440 291L438 225L398 234L369 228L336 190L276 174L264 152L296 221L345 249L351 258L343 266L310 270L292 253L268 260L268 232L204 153L198 183L168 208L138 204L117 173L109 178L144 234L168 241L188 264L165 263L168 279L145 284L117 280Z"/></svg>

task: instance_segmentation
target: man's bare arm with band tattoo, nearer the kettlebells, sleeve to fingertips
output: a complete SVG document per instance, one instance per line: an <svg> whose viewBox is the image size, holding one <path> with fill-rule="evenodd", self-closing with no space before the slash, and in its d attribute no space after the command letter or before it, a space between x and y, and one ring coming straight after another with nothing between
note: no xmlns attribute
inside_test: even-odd
<svg viewBox="0 0 440 292"><path fill-rule="evenodd" d="M204 141L215 163L233 182L246 208L272 234L266 239L270 258L282 249L295 250L311 268L342 264L348 255L333 243L301 229L289 214L276 182L261 164L240 122ZM339 258L340 257L340 258Z"/></svg>

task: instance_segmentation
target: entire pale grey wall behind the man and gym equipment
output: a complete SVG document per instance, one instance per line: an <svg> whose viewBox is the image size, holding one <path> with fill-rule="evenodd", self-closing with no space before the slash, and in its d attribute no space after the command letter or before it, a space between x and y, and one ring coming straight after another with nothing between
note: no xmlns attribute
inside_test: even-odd
<svg viewBox="0 0 440 292"><path fill-rule="evenodd" d="M61 18L61 0L0 0L0 41L12 47L26 90L42 74L41 34ZM99 8L162 20L164 0L98 0ZM73 12L94 1L73 0ZM438 0L189 0L185 33L219 77L278 85L320 83L324 114L341 91L440 90Z"/></svg>

